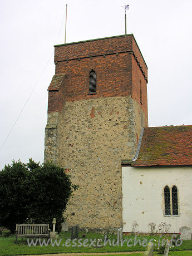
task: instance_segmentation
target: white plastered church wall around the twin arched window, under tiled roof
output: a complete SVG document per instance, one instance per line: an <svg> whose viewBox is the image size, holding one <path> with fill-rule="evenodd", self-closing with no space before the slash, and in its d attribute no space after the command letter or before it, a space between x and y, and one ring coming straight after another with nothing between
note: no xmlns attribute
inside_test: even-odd
<svg viewBox="0 0 192 256"><path fill-rule="evenodd" d="M164 187L178 188L178 216L164 215ZM170 224L170 233L187 226L192 230L192 167L122 167L123 232L131 232L137 222L138 232L149 232L148 223Z"/></svg>

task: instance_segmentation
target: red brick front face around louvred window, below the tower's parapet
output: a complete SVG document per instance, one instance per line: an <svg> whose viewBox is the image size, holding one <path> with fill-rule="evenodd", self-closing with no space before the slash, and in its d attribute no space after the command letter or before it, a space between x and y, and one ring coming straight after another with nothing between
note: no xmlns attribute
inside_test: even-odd
<svg viewBox="0 0 192 256"><path fill-rule="evenodd" d="M97 93L88 95L88 77L91 69L97 75ZM63 96L65 101L91 100L99 97L132 95L131 90L131 55L99 56L60 62L56 72L66 72ZM52 105L51 102L49 102Z"/></svg>

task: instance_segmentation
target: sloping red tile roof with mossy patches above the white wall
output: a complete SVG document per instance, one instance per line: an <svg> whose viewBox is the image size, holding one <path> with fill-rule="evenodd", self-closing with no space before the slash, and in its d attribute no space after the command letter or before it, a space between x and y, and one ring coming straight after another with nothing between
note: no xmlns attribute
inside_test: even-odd
<svg viewBox="0 0 192 256"><path fill-rule="evenodd" d="M147 127L131 166L192 165L192 125Z"/></svg>

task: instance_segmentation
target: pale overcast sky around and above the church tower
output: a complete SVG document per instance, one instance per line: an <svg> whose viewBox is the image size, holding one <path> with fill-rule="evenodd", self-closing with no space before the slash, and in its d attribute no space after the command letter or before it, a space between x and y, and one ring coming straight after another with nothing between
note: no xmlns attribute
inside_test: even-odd
<svg viewBox="0 0 192 256"><path fill-rule="evenodd" d="M123 35L125 24L120 0L0 0L0 4L0 147L36 85L0 151L2 169L12 159L43 161L47 87L55 73L53 45L64 43L66 4L67 43ZM148 67L149 126L192 125L192 1L126 4L130 5L127 33L134 34Z"/></svg>

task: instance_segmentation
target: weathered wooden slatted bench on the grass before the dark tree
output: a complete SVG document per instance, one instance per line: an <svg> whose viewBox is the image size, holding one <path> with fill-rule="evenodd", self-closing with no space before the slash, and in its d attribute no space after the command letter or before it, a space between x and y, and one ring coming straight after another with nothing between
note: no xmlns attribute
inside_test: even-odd
<svg viewBox="0 0 192 256"><path fill-rule="evenodd" d="M48 237L50 238L49 224L16 224L17 237Z"/></svg>

